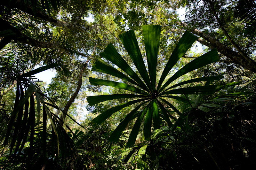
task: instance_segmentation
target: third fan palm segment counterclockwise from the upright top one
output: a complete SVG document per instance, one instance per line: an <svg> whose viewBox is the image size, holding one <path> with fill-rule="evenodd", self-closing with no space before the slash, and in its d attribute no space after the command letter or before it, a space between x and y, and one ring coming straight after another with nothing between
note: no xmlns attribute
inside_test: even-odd
<svg viewBox="0 0 256 170"><path fill-rule="evenodd" d="M101 73L107 73L113 76L116 76L118 78L121 78L123 80L126 80L132 84L135 84L136 86L139 86L140 88L143 88L143 86L140 86L137 82L133 81L131 78L127 77L120 71L118 71L116 68L110 66L108 63L103 61L101 58L95 58L94 64L92 66L92 71L98 71ZM146 89L147 90L147 89Z"/></svg>

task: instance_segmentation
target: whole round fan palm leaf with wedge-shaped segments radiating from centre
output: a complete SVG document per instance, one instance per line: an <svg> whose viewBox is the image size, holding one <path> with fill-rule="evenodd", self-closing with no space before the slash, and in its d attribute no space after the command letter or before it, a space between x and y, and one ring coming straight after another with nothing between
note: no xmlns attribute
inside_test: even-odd
<svg viewBox="0 0 256 170"><path fill-rule="evenodd" d="M92 71L99 71L102 73L107 73L123 79L126 83L107 81L101 79L95 79L90 77L89 81L91 85L106 85L112 86L119 89L125 89L131 91L133 94L119 94L119 95L102 95L102 96L91 96L87 97L87 101L90 105L97 104L107 100L113 100L118 98L138 98L130 102L126 102L120 105L117 105L97 116L92 121L95 123L102 123L104 120L108 119L113 113L123 109L124 107L130 106L137 103L137 107L132 110L118 125L116 130L110 136L110 141L116 141L120 137L122 131L125 129L129 121L137 118L134 128L132 129L131 135L129 137L127 146L131 146L135 143L137 134L140 129L141 122L145 117L144 122L144 136L147 139L151 133L152 120L154 129L160 128L160 124L163 123L162 120L167 122L168 126L172 126L173 117L166 110L164 105L169 105L177 114L182 117L183 115L176 109L171 103L167 102L163 98L174 98L183 102L186 102L184 98L172 96L177 94L210 94L215 92L214 85L205 85L205 86L196 86L188 88L175 89L176 87L181 87L180 85L199 82L199 81L213 81L220 79L220 76L205 77L192 79L189 81L184 81L179 84L176 84L172 87L168 87L170 83L178 79L180 76L198 69L202 66L211 64L212 62L219 61L218 53L216 50L211 50L206 54L196 58L195 60L188 63L186 66L181 68L177 73L175 73L167 81L164 80L168 73L171 71L172 67L178 62L178 60L185 54L185 52L192 46L198 37L185 32L182 38L180 39L178 45L173 51L169 61L167 62L164 71L161 75L159 82L156 82L156 63L157 63L157 54L158 46L160 40L161 26L152 26L147 25L143 26L143 37L145 43L145 50L147 54L148 62L148 71L144 64L140 48L135 37L134 31L128 31L119 35L122 43L124 44L125 49L130 55L134 65L136 66L140 75L137 75L133 69L124 61L121 55L117 52L115 47L112 44L109 44L104 52L100 54L101 57L106 58L111 61L113 64L118 66L124 73L120 72L116 68L110 66L100 58L96 58L94 65L92 66ZM141 79L141 78L142 79ZM165 103L165 104L164 104ZM163 105L164 104L164 105ZM142 109L140 112L138 110ZM161 114L159 112L161 110ZM184 116L183 116L184 117Z"/></svg>

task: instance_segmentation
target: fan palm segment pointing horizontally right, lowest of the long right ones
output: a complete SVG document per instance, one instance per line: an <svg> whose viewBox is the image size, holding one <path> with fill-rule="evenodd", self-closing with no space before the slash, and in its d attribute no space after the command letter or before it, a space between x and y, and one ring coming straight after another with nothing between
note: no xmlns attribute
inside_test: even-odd
<svg viewBox="0 0 256 170"><path fill-rule="evenodd" d="M186 87L180 89L169 90L161 95L174 95L174 94L213 94L215 93L216 85L209 86L195 86L195 87Z"/></svg>

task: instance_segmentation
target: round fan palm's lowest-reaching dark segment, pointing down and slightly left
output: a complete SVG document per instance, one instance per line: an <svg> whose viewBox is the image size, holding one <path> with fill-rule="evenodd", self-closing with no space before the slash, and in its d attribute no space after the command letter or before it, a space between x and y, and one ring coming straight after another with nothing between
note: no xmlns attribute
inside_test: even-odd
<svg viewBox="0 0 256 170"><path fill-rule="evenodd" d="M142 120L144 118L144 115L146 114L146 112L148 110L148 106L149 106L149 104L143 109L143 111L141 112L140 116L136 120L136 122L135 122L135 124L134 124L134 126L132 128L132 132L130 134L128 142L126 144L126 147L131 147L132 145L134 145L134 143L136 141L136 138L137 138L137 135L138 135L139 130L140 130L141 122L142 122Z"/></svg>

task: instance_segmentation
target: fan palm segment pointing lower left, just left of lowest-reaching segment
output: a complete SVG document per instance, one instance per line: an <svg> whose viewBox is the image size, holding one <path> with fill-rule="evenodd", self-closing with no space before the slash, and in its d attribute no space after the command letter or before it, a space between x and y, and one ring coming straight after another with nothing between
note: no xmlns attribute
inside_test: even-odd
<svg viewBox="0 0 256 170"><path fill-rule="evenodd" d="M146 101L148 102L148 101ZM142 104L138 105L137 107L135 107L132 112L130 112L120 123L119 125L116 127L116 129L114 130L114 132L111 134L111 136L109 137L109 141L110 142L116 142L120 136L121 133L124 131L124 129L126 128L127 124L134 119L134 115L136 114L137 110L146 102L143 102ZM138 117L140 114L137 114L136 117Z"/></svg>

